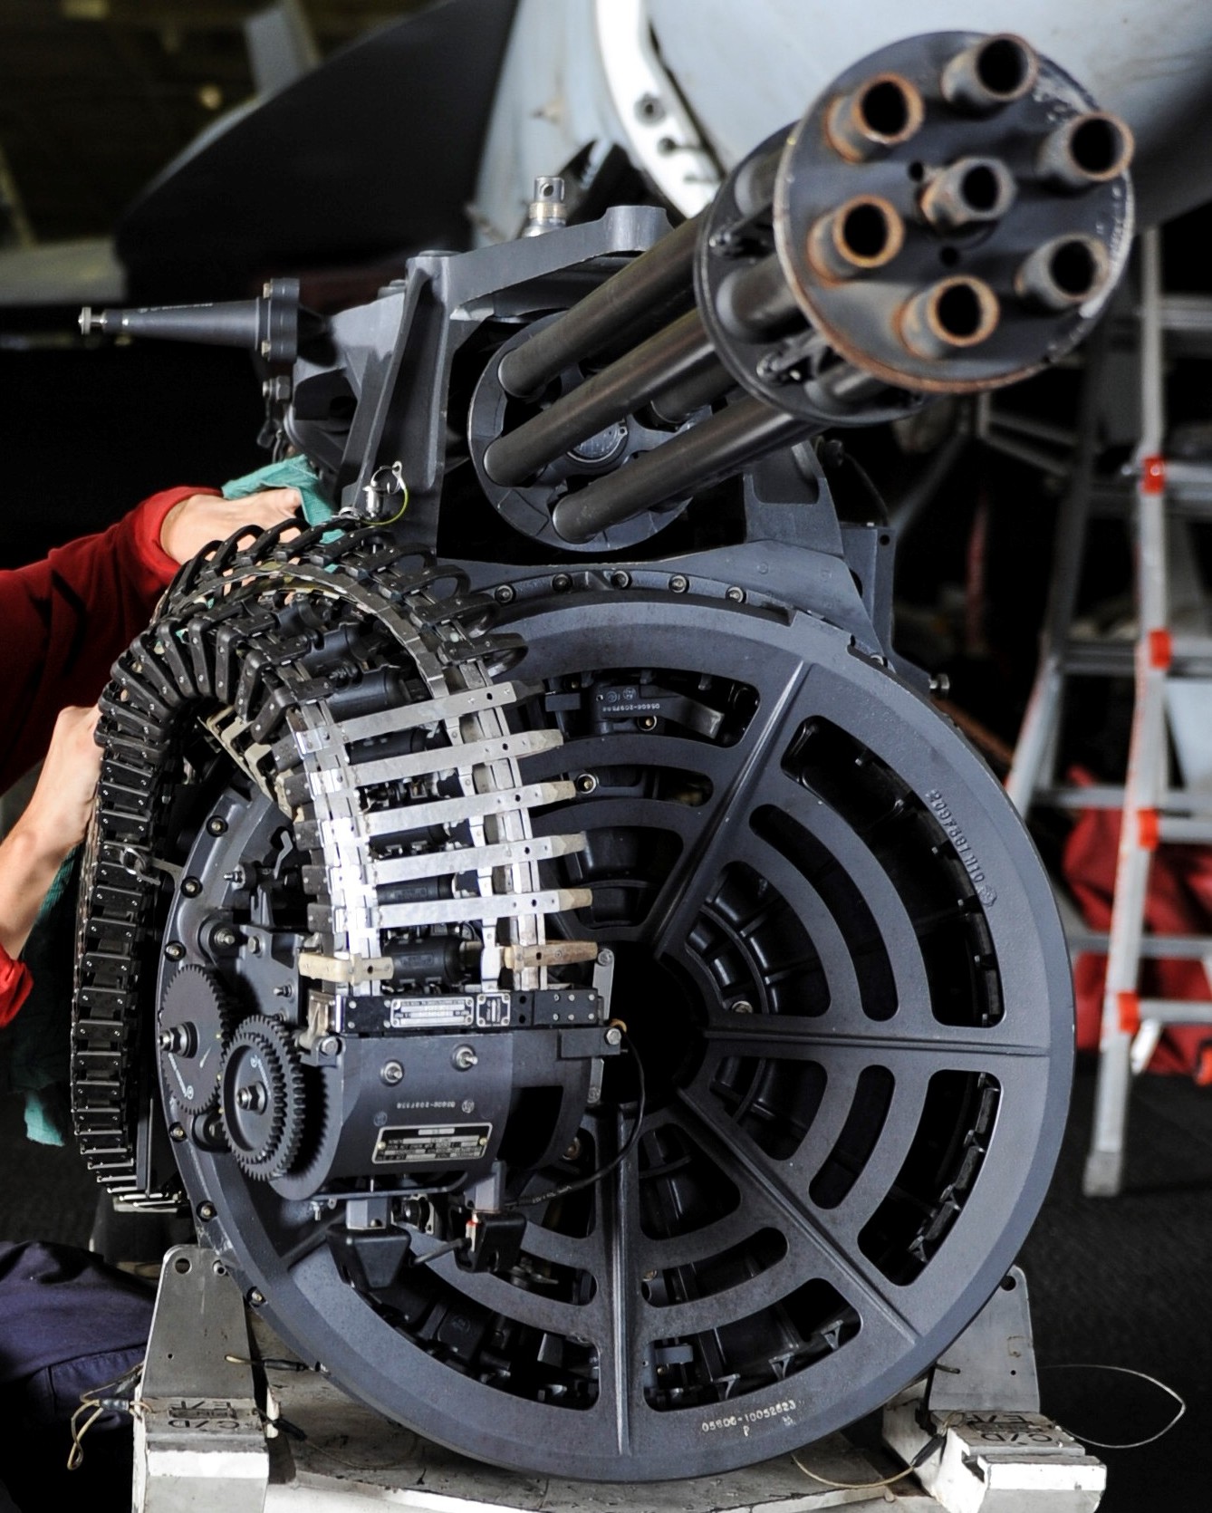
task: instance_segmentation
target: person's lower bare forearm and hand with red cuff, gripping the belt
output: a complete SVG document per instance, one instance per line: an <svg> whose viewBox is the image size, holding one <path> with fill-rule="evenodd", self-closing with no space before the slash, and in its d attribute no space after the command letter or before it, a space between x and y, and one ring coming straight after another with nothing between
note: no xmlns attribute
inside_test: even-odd
<svg viewBox="0 0 1212 1513"><path fill-rule="evenodd" d="M95 707L59 714L38 787L0 843L0 1024L8 1024L29 993L29 970L17 958L54 875L92 817L101 770L95 728Z"/></svg>

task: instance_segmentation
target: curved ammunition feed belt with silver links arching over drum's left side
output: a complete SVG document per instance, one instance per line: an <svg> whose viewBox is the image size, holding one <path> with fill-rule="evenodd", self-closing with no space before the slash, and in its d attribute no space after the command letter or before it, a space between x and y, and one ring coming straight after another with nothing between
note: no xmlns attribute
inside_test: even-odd
<svg viewBox="0 0 1212 1513"><path fill-rule="evenodd" d="M162 856L200 728L294 823L303 965L345 994L383 991L398 938L384 932L434 926L480 929L480 988L498 986L507 962L514 986L545 988L543 915L590 902L584 888L540 882L539 862L584 838L533 835L531 808L572 799L573 787L521 781L519 760L560 735L510 731L505 711L524 690L493 678L519 646L489 632L492 601L469 595L457 569L348 525L244 531L195 558L101 696L73 1115L89 1168L126 1203L166 1201L150 1191L141 1111L160 899L176 884ZM381 897L401 888L407 902Z"/></svg>

